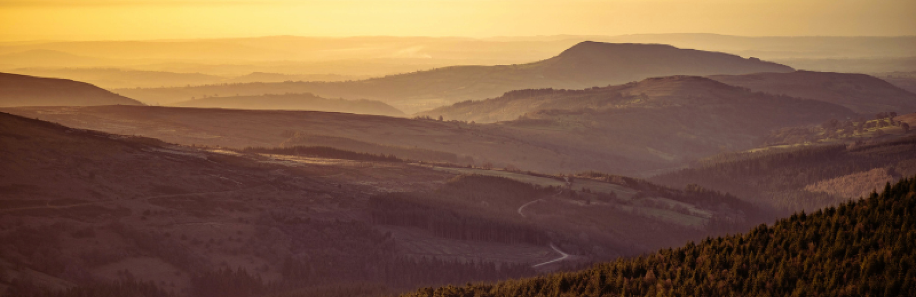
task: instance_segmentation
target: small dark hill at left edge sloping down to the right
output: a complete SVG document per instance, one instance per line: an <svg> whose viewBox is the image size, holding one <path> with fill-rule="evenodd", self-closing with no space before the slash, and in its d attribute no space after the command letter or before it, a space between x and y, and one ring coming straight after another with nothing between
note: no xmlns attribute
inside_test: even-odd
<svg viewBox="0 0 916 297"><path fill-rule="evenodd" d="M0 72L0 106L142 105L85 82Z"/></svg>

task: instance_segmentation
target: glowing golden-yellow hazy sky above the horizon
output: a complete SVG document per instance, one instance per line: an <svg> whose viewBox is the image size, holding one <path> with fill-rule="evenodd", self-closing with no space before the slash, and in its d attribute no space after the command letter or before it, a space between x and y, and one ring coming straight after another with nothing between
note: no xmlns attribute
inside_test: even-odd
<svg viewBox="0 0 916 297"><path fill-rule="evenodd" d="M0 39L916 35L916 0L0 0Z"/></svg>

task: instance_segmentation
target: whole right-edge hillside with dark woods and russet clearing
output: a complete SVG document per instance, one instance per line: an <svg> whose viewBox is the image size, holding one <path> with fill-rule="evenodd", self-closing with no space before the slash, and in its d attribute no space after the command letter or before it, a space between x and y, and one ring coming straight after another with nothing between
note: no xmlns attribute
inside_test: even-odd
<svg viewBox="0 0 916 297"><path fill-rule="evenodd" d="M783 213L845 202L916 175L916 137L859 145L772 148L723 154L650 180L679 187L699 184L766 203Z"/></svg>

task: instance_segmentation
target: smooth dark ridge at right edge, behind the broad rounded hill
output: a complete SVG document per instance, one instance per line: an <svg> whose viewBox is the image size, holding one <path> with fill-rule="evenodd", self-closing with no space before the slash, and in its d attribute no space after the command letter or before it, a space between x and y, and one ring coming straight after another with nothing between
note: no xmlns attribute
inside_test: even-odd
<svg viewBox="0 0 916 297"><path fill-rule="evenodd" d="M716 75L710 78L757 92L787 94L840 104L864 115L891 111L900 114L916 112L916 93L866 74L792 71Z"/></svg>

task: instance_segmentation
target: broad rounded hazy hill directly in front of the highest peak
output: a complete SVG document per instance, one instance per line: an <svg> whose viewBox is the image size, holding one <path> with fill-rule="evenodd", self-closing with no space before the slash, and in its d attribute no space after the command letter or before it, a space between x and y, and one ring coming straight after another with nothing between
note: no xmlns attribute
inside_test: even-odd
<svg viewBox="0 0 916 297"><path fill-rule="evenodd" d="M723 150L754 148L771 130L791 123L856 116L835 104L751 93L687 76L575 91L515 91L423 115L505 121L494 126L531 143L578 148L582 156L594 154L589 149L613 151L671 167Z"/></svg>

